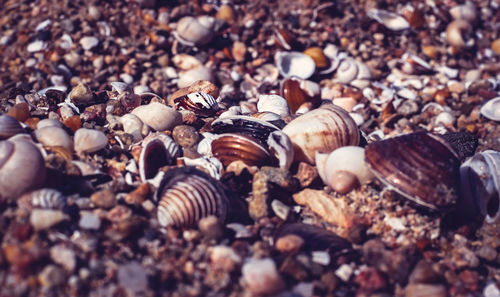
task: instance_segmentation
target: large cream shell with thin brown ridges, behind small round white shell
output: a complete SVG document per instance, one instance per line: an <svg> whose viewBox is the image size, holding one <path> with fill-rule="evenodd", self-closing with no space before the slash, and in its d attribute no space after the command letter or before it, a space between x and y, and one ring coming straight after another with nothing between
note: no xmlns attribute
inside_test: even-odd
<svg viewBox="0 0 500 297"><path fill-rule="evenodd" d="M347 145L359 144L359 130L342 108L325 104L288 123L283 132L290 137L295 160L315 163L316 152L328 153Z"/></svg>

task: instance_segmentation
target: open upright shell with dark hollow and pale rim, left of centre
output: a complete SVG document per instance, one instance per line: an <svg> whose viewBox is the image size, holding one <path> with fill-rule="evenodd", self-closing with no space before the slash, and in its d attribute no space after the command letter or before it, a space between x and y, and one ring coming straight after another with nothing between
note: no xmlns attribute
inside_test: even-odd
<svg viewBox="0 0 500 297"><path fill-rule="evenodd" d="M139 155L139 175L142 181L154 178L161 167L173 164L179 153L179 146L170 136L163 133L148 135Z"/></svg>

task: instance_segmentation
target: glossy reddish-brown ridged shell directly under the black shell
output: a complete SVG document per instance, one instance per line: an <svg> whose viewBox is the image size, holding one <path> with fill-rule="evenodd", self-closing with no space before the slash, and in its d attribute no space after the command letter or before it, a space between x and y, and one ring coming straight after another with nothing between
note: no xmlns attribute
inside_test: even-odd
<svg viewBox="0 0 500 297"><path fill-rule="evenodd" d="M241 160L249 166L262 166L271 163L268 150L251 137L226 133L212 141L212 154L224 166Z"/></svg>

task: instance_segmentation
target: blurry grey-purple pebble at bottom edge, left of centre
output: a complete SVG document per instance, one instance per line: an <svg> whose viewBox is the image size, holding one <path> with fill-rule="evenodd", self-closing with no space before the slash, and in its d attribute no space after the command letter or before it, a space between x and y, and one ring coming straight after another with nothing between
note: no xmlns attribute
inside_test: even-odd
<svg viewBox="0 0 500 297"><path fill-rule="evenodd" d="M148 288L146 271L138 262L130 262L118 267L118 284L129 291L132 296Z"/></svg>

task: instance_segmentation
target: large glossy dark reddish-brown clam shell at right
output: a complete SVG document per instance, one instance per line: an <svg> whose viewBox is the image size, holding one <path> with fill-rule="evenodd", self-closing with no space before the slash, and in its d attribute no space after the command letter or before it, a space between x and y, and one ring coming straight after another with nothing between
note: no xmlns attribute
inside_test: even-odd
<svg viewBox="0 0 500 297"><path fill-rule="evenodd" d="M365 160L380 181L422 206L446 209L457 201L460 160L438 136L418 132L372 142Z"/></svg>

